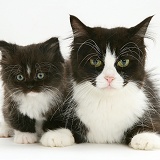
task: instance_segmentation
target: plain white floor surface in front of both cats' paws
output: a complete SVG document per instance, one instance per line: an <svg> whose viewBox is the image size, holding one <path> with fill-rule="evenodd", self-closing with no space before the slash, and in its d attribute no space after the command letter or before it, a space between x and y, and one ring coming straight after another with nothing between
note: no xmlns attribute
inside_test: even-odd
<svg viewBox="0 0 160 160"><path fill-rule="evenodd" d="M1 160L159 160L160 151L133 150L116 144L78 144L48 148L39 144L15 144L13 139L0 140Z"/></svg>

